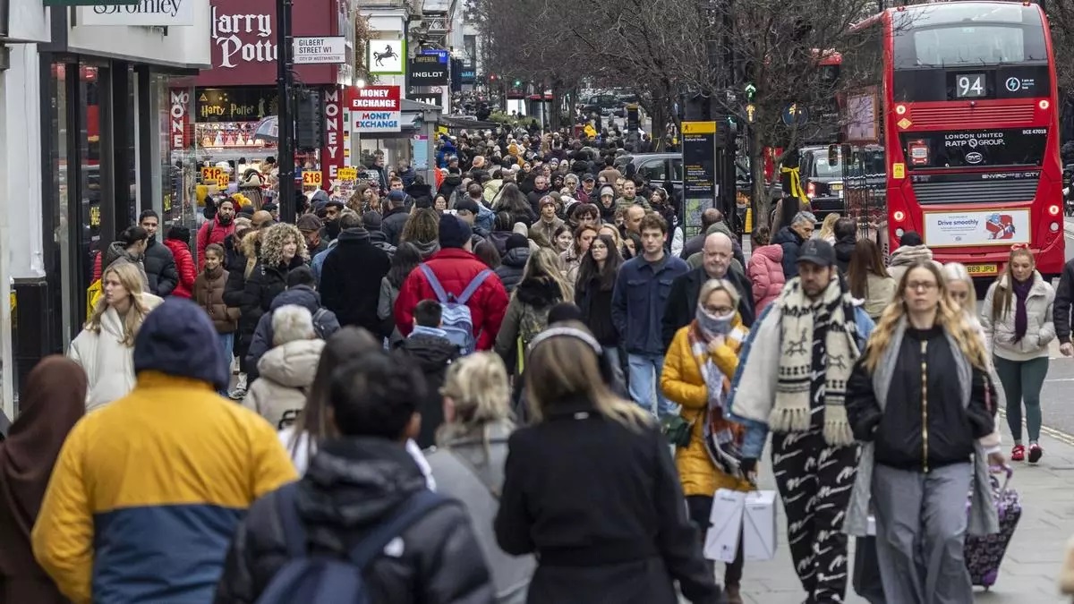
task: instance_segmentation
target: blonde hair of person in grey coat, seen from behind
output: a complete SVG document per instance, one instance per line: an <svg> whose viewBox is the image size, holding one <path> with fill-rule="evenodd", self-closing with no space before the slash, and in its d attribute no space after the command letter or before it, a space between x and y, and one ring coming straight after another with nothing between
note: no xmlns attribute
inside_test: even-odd
<svg viewBox="0 0 1074 604"><path fill-rule="evenodd" d="M490 425L507 421L513 428L507 368L495 353L475 353L451 363L440 394L451 399L455 419L436 431L437 445L480 431L488 447Z"/></svg>

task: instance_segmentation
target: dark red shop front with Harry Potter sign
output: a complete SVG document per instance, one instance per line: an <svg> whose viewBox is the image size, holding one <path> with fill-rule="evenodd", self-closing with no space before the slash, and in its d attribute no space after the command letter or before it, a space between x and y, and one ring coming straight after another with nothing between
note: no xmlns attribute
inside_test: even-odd
<svg viewBox="0 0 1074 604"><path fill-rule="evenodd" d="M281 53L276 44L275 4L263 0L211 0L209 4L212 67L197 77L174 82L171 90L173 114L179 117L173 123L170 148L174 157L188 158L197 166L184 177L193 181L195 197L200 191L199 204L206 193L234 190L246 168L277 159L275 139L256 131L279 107L276 61ZM354 72L353 15L350 0L309 0L295 5L292 33L343 35L350 61L293 68L297 186L329 188L344 166L340 99Z"/></svg>

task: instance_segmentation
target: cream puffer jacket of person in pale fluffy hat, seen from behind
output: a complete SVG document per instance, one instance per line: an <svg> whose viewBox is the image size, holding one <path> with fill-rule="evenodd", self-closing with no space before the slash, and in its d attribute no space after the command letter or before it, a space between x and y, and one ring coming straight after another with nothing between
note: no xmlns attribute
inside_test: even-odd
<svg viewBox="0 0 1074 604"><path fill-rule="evenodd" d="M258 412L277 430L287 428L306 406L323 349L323 340L296 340L265 353L243 406Z"/></svg>

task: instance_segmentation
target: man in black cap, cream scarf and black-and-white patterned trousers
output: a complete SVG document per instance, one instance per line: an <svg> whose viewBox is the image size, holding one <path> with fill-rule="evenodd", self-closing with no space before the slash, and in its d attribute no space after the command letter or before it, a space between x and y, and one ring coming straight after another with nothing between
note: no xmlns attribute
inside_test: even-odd
<svg viewBox="0 0 1074 604"><path fill-rule="evenodd" d="M804 241L797 269L750 331L725 408L746 429L744 475L772 431L772 474L807 601L842 602L843 517L858 463L844 398L873 322L839 277L831 244Z"/></svg>

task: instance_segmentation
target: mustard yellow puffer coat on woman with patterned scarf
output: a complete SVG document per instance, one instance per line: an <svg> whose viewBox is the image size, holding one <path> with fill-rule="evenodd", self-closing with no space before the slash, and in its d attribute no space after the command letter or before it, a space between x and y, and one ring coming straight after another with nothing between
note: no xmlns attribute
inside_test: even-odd
<svg viewBox="0 0 1074 604"><path fill-rule="evenodd" d="M734 489L751 491L753 486L749 480L740 480L724 474L716 469L705 450L705 422L701 421L709 404L708 389L701 377L700 363L712 356L713 362L724 374L724 388L729 385L735 370L738 369L738 350L745 340L746 328L738 316L735 317L732 332L726 339L715 355L708 350L700 359L695 358L690 347L690 326L680 329L668 347L664 359L664 372L661 374L661 390L668 400L682 405L680 415L686 421L692 421L694 428L690 434L690 446L676 449L676 466L679 469L679 479L686 495L712 497L717 489Z"/></svg>

